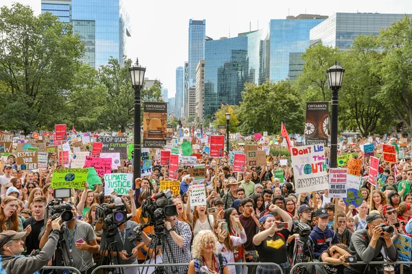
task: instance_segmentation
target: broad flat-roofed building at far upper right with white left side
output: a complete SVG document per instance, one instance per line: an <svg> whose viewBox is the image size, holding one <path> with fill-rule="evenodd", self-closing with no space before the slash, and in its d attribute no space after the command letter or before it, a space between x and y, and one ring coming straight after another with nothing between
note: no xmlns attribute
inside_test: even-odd
<svg viewBox="0 0 412 274"><path fill-rule="evenodd" d="M405 15L336 12L310 29L310 43L313 45L321 42L325 46L348 49L353 45L356 36L377 35L381 29L390 27L391 23L399 21Z"/></svg>

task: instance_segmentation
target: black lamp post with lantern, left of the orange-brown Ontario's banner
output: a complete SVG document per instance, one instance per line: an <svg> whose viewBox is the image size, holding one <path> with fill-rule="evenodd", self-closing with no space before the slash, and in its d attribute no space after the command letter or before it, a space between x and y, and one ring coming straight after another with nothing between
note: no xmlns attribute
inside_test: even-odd
<svg viewBox="0 0 412 274"><path fill-rule="evenodd" d="M133 146L133 182L136 178L140 177L141 172L141 121L140 121L140 90L143 88L144 84L144 73L146 68L139 65L139 59L136 60L134 66L130 66L130 80L132 82L133 89L135 90L135 143Z"/></svg>

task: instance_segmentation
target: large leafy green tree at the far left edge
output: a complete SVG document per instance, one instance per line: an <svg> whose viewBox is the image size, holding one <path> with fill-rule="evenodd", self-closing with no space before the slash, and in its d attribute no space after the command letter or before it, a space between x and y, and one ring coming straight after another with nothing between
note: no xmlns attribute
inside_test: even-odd
<svg viewBox="0 0 412 274"><path fill-rule="evenodd" d="M64 122L84 52L71 25L14 3L0 10L0 37L0 127L30 132Z"/></svg>

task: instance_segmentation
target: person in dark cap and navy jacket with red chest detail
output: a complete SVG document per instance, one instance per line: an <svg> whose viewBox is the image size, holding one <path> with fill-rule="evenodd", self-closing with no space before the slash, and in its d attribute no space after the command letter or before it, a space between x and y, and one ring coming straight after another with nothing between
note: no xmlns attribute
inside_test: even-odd
<svg viewBox="0 0 412 274"><path fill-rule="evenodd" d="M319 208L314 212L314 216L317 217L318 221L312 232L310 232L309 242L313 247L314 257L319 258L323 251L331 245L337 244L339 239L336 233L328 227L329 214L325 208Z"/></svg>

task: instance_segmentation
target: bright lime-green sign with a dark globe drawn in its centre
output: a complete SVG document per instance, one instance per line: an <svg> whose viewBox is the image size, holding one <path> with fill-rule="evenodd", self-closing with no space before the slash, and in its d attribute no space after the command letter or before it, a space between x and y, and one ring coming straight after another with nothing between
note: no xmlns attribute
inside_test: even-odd
<svg viewBox="0 0 412 274"><path fill-rule="evenodd" d="M84 189L89 169L55 169L52 177L52 188Z"/></svg>

